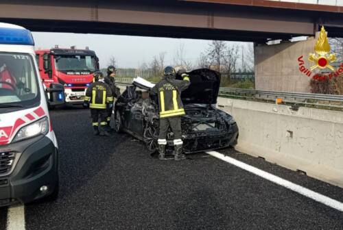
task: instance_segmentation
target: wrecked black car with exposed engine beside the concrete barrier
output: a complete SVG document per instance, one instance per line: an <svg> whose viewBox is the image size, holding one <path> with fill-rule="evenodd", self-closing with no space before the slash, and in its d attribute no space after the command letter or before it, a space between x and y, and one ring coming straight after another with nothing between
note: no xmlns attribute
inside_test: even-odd
<svg viewBox="0 0 343 230"><path fill-rule="evenodd" d="M195 73L199 72L195 71ZM202 73L211 73L211 71L202 71ZM213 85L217 86L217 84ZM157 149L158 106L156 98L142 97L142 94L146 93L141 91L145 90L148 90L148 88L138 87L135 84L127 86L115 103L115 116L120 116L121 129L145 142L147 149L153 152ZM214 89L211 93L208 102L217 100L217 89ZM215 98L213 98L214 96ZM205 98L196 99L190 92L187 94L187 98L193 98L193 101L202 103L191 103L190 100L185 100L186 115L181 118L185 153L222 149L237 144L239 131L237 123L230 114L218 110L211 103L204 103ZM184 99L182 99L182 102L184 102ZM174 133L169 130L167 149L173 149L173 140Z"/></svg>

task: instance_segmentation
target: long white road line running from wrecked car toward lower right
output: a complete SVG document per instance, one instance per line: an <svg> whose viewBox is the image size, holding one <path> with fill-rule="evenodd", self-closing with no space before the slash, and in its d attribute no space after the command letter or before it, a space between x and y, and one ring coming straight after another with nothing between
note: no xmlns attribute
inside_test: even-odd
<svg viewBox="0 0 343 230"><path fill-rule="evenodd" d="M298 192L299 194L302 194L303 196L307 196L309 199L313 199L313 200L318 201L324 205L327 205L327 206L332 207L334 209L338 209L340 212L343 212L343 203L341 203L340 201L336 201L336 200L331 199L327 196L319 194L318 192L314 192L314 191L309 190L307 188L304 188L302 186L298 186L295 183L292 183L290 181L282 179L281 177L276 177L275 175L272 175L269 172L265 172L263 170L260 170L259 168L255 168L255 167L250 166L248 164L245 164L243 162L239 162L237 159L234 159L232 157L228 157L222 153L218 153L216 151L208 151L206 153L209 155L212 155L213 157L217 157L218 159L222 159L225 162L233 164L239 168L247 170L248 172L251 172L251 173L253 173L259 177L263 177L264 179L268 179L268 181L272 181L272 182L278 184L279 186L283 186L285 188L288 188L289 190L292 190L294 192Z"/></svg>

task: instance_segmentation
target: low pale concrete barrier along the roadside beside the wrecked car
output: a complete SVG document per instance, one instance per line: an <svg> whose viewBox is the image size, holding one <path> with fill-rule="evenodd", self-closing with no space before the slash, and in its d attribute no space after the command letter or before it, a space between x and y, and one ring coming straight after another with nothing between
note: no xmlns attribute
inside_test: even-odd
<svg viewBox="0 0 343 230"><path fill-rule="evenodd" d="M238 151L343 188L343 113L218 99L239 127ZM222 107L224 106L224 107Z"/></svg>

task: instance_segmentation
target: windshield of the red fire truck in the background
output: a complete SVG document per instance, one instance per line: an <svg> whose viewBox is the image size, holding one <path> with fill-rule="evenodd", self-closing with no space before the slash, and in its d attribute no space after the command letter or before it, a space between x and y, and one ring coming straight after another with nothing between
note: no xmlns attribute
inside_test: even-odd
<svg viewBox="0 0 343 230"><path fill-rule="evenodd" d="M89 55L55 55L58 71L95 71L95 56Z"/></svg>

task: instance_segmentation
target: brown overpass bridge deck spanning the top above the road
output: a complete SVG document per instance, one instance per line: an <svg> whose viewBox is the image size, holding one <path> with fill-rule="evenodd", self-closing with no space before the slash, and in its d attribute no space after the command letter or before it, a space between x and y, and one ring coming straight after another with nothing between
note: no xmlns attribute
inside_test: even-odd
<svg viewBox="0 0 343 230"><path fill-rule="evenodd" d="M343 37L338 12L268 8L197 1L23 1L0 2L0 21L32 31L121 34L265 42L313 36L325 25Z"/></svg>

